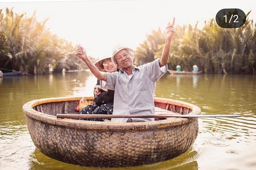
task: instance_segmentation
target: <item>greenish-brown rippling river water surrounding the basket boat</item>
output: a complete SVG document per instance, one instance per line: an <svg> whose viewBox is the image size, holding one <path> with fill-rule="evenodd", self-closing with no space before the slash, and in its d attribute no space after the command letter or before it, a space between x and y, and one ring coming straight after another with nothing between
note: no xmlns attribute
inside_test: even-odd
<svg viewBox="0 0 256 170"><path fill-rule="evenodd" d="M0 79L0 170L256 170L256 76L164 75L155 96L199 106L202 114L241 114L239 118L200 118L195 143L184 154L157 164L91 168L44 156L34 146L24 103L61 96L93 96L90 72Z"/></svg>

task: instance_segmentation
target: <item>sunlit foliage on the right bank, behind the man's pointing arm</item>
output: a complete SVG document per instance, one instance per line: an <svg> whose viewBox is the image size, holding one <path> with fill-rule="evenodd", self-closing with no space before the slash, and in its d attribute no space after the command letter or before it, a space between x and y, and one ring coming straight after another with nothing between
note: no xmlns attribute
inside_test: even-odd
<svg viewBox="0 0 256 170"><path fill-rule="evenodd" d="M170 47L169 69L175 70L179 64L182 70L192 71L192 66L197 64L204 73L255 74L256 24L248 19L248 14L245 25L238 29L223 29L214 19L205 21L202 29L198 29L197 24L177 26ZM139 53L135 55L135 64L161 57L163 37L164 32L160 29L147 35L135 51ZM151 44L157 48L152 48Z"/></svg>

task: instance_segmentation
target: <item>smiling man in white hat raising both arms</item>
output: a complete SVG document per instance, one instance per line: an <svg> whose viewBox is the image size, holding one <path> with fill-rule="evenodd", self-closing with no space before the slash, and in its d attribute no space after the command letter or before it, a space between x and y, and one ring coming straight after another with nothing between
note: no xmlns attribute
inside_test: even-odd
<svg viewBox="0 0 256 170"><path fill-rule="evenodd" d="M165 47L161 58L136 67L133 64L134 51L129 47L118 45L113 49L111 60L120 68L119 72L100 72L90 61L86 51L78 45L76 55L81 58L89 67L91 72L101 82L101 87L115 90L114 94L114 114L154 114L155 105L153 93L158 79L167 71L167 61L170 53L171 38L175 32L174 21L168 22L166 27ZM153 118L114 118L111 122L146 122L154 121Z"/></svg>

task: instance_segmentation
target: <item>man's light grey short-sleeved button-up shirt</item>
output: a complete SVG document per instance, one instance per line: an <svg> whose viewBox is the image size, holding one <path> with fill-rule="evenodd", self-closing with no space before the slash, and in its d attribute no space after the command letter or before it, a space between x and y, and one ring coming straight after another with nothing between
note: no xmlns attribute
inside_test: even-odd
<svg viewBox="0 0 256 170"><path fill-rule="evenodd" d="M107 72L106 85L102 88L115 90L113 115L122 114L155 114L155 104L153 94L156 82L167 71L161 71L159 59L145 65L132 69L132 77L129 79L126 72ZM127 122L128 118L112 118L111 122ZM132 122L149 122L154 118L132 118Z"/></svg>

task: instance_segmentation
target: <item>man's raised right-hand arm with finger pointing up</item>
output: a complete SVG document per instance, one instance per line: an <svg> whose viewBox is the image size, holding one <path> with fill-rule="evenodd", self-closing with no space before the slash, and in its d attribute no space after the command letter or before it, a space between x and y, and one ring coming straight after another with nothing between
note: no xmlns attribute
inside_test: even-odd
<svg viewBox="0 0 256 170"><path fill-rule="evenodd" d="M173 18L172 23L168 22L167 27L166 27L165 47L163 48L163 53L162 53L161 59L159 60L160 67L165 66L168 61L168 57L169 57L169 53L170 53L171 38L173 37L173 34L175 32L175 29L173 26L174 22L175 22L175 18Z"/></svg>

